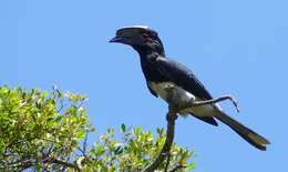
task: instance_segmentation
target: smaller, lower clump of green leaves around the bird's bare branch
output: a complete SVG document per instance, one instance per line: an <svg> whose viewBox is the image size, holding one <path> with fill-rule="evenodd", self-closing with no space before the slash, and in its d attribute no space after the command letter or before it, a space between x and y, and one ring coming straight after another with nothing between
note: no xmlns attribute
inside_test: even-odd
<svg viewBox="0 0 288 172"><path fill-rule="evenodd" d="M164 142L164 129L157 129L154 139L151 131L141 128L126 130L122 124L122 139L114 139L114 130L109 129L99 142L94 143L88 159L92 160L85 169L92 171L141 171L158 155ZM175 143L171 150L169 166L186 166L187 171L194 168L194 163L187 163L193 152L177 146ZM163 163L160 169L165 169Z"/></svg>

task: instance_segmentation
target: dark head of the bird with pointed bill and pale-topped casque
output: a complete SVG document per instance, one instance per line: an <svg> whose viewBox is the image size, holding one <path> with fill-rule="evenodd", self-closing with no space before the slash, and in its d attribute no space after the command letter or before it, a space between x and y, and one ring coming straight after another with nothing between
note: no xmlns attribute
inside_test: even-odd
<svg viewBox="0 0 288 172"><path fill-rule="evenodd" d="M144 26L121 28L110 42L128 44L140 53L158 52L164 55L164 48L158 38L158 33Z"/></svg>

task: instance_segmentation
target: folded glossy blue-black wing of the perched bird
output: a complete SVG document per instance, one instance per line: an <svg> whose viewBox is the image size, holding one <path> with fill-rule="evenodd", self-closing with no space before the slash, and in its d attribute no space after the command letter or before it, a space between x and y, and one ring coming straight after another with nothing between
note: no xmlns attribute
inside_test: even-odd
<svg viewBox="0 0 288 172"><path fill-rule="evenodd" d="M182 87L199 99L213 99L200 81L185 65L163 57L157 57L154 62L160 72L169 79L171 82Z"/></svg>

